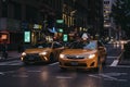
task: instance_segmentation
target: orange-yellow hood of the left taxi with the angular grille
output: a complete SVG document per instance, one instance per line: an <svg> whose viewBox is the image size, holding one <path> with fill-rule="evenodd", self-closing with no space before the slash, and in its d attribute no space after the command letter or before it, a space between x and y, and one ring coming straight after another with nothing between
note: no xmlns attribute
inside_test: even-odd
<svg viewBox="0 0 130 87"><path fill-rule="evenodd" d="M25 52L26 53L40 53L43 51L49 51L51 50L50 48L32 48L32 49L26 49Z"/></svg>

